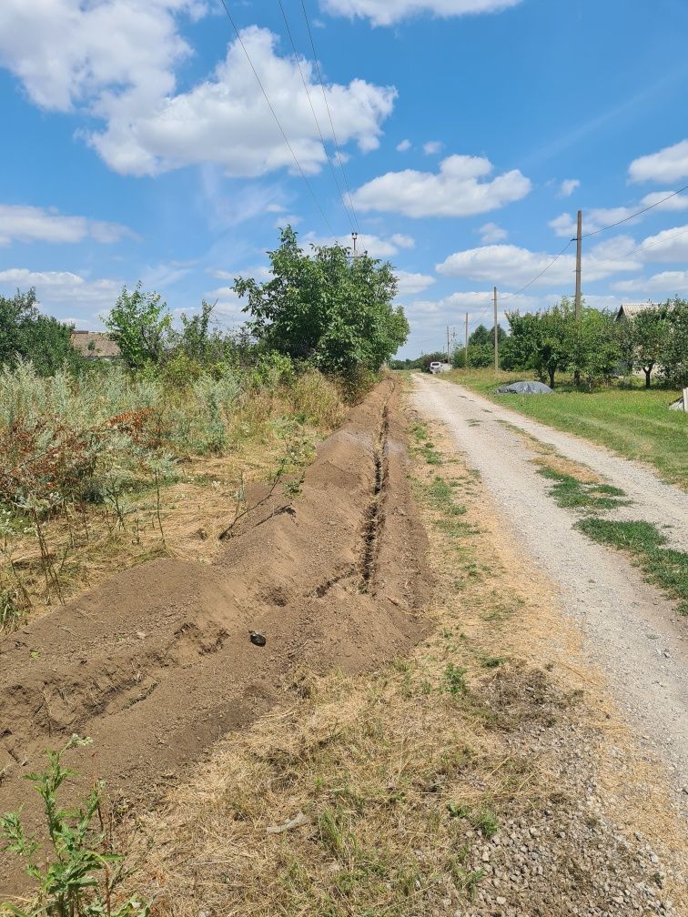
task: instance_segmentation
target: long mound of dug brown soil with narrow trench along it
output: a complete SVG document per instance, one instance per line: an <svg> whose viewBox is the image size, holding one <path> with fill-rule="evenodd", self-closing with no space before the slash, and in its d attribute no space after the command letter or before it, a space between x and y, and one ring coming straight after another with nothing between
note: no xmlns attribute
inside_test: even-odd
<svg viewBox="0 0 688 917"><path fill-rule="evenodd" d="M373 668L424 635L426 543L397 397L385 381L354 408L302 494L249 514L214 565L150 561L6 637L0 812L24 804L36 821L21 777L72 733L93 737L111 798L135 801L260 717L300 670ZM83 751L70 754L83 770ZM3 860L11 894L23 880Z"/></svg>

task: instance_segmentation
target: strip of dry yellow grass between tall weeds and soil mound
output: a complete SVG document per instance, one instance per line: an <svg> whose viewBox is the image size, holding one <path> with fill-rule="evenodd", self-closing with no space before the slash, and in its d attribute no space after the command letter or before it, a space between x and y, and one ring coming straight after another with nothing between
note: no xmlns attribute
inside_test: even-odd
<svg viewBox="0 0 688 917"><path fill-rule="evenodd" d="M181 557L212 562L217 535L235 513L239 491L267 481L284 455L288 436L314 446L335 429L346 406L335 385L305 375L290 389L246 393L228 427L230 451L223 456L182 456L179 480L161 486L160 506L150 482L112 507L92 503L66 511L43 525L50 550L50 575L33 531L13 537L11 558L0 563L0 593L16 590L21 613L8 624L35 619L87 591L120 569L152 558ZM288 440L287 440L288 441ZM51 572L54 571L55 578Z"/></svg>

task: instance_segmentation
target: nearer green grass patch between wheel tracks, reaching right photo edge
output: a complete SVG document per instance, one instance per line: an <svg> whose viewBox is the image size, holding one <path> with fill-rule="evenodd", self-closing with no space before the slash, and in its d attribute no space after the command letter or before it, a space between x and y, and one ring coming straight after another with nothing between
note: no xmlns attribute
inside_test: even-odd
<svg viewBox="0 0 688 917"><path fill-rule="evenodd" d="M667 539L648 522L609 522L582 519L576 523L594 541L627 551L638 560L645 579L679 600L679 611L688 614L688 554L666 545Z"/></svg>

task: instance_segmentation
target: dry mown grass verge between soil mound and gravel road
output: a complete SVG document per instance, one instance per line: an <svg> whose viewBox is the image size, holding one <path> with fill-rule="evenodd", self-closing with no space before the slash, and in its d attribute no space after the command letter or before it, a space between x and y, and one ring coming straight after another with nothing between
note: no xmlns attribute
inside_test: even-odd
<svg viewBox="0 0 688 917"><path fill-rule="evenodd" d="M604 678L556 611L551 584L516 554L441 432L431 438L442 467L427 460L426 431L414 476L437 575L433 634L372 675L303 673L285 684L280 708L219 742L193 780L131 825L137 885L156 913L471 910L487 837L503 819L547 805L569 817L567 794L583 793L581 755L586 779L592 772L605 784L616 822L681 848L660 778L649 765L634 768ZM612 740L626 779L639 774L654 794L614 785L605 765ZM300 814L297 826L271 833ZM571 856L567 843L561 856ZM570 906L551 900L547 912Z"/></svg>

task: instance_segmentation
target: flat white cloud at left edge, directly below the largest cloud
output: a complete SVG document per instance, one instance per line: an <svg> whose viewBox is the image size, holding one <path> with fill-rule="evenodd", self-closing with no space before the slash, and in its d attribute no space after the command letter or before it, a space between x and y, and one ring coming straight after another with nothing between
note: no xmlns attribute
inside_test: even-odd
<svg viewBox="0 0 688 917"><path fill-rule="evenodd" d="M90 220L85 216L67 216L56 210L20 204L0 204L0 245L10 242L117 242L123 236L133 237L127 226Z"/></svg>

